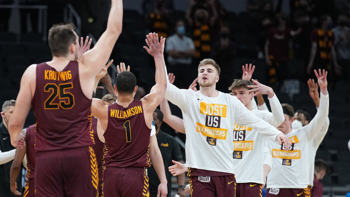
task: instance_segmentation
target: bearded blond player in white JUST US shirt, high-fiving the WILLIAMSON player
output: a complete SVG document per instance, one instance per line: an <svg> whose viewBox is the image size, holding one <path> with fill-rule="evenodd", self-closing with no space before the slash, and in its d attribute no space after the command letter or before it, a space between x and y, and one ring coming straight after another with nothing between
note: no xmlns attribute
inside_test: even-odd
<svg viewBox="0 0 350 197"><path fill-rule="evenodd" d="M236 124L257 129L280 144L282 140L290 144L285 135L252 114L236 97L217 91L219 74L216 62L204 59L198 66L199 91L178 89L167 80L165 98L180 107L183 114L186 166L194 197L235 195L231 140Z"/></svg>

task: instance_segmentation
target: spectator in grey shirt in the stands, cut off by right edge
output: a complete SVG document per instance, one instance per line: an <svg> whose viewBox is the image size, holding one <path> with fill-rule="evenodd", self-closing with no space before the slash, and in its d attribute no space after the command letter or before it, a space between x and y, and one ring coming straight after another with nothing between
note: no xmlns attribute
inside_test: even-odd
<svg viewBox="0 0 350 197"><path fill-rule="evenodd" d="M348 26L348 18L345 15L339 15L338 25L332 29L335 53L342 68L342 78L346 81L350 79L350 28Z"/></svg>

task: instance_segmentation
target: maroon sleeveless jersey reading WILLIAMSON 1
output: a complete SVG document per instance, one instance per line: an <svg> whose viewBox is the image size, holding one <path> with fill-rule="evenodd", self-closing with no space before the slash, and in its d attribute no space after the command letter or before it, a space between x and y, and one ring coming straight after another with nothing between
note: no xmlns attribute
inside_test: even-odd
<svg viewBox="0 0 350 197"><path fill-rule="evenodd" d="M108 106L108 124L104 137L108 146L105 166L149 167L149 129L141 101L127 108L113 103Z"/></svg>

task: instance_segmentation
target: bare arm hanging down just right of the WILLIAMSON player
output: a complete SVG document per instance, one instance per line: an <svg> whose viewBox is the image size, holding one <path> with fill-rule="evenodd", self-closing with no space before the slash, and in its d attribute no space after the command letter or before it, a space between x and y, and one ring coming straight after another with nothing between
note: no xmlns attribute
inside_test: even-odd
<svg viewBox="0 0 350 197"><path fill-rule="evenodd" d="M158 143L157 143L157 137L155 135L152 135L149 138L149 156L151 157L153 167L157 172L158 178L160 180L157 197L159 196L166 197L168 193L168 188L167 188L168 181L167 181L167 178L165 177L163 157L162 157L162 154L160 153Z"/></svg>

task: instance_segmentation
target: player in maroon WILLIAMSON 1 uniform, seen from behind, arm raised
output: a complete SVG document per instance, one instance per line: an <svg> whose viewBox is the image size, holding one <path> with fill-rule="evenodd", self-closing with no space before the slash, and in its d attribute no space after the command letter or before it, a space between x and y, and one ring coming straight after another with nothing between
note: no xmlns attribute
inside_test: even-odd
<svg viewBox="0 0 350 197"><path fill-rule="evenodd" d="M153 111L163 100L166 89L162 60L165 39L161 37L159 42L158 34L150 33L146 43L149 48L144 48L154 57L156 67L156 84L151 92L140 101L134 100L136 78L131 72L124 71L117 75L114 85L118 102L109 105L93 99L92 114L99 118L105 130L103 136L108 147L103 178L105 197L149 196L146 175L146 168L151 165L148 139ZM157 143L155 145L158 147ZM167 195L167 180L163 161L153 162L161 181L157 196L164 197Z"/></svg>

